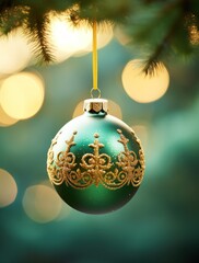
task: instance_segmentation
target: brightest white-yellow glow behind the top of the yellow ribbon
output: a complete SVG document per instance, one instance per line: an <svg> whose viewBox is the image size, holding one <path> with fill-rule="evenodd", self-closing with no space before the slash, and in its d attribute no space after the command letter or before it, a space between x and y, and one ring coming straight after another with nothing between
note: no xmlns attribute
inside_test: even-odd
<svg viewBox="0 0 199 263"><path fill-rule="evenodd" d="M70 56L82 56L92 50L92 27L87 22L74 26L67 14L50 15L49 42L57 62ZM103 23L97 28L97 48L106 46L113 38L113 26Z"/></svg>

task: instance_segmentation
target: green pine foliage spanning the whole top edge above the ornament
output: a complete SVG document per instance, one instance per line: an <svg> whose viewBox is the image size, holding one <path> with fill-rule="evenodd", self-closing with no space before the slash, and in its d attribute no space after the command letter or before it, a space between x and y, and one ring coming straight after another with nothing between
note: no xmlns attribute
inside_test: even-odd
<svg viewBox="0 0 199 263"><path fill-rule="evenodd" d="M74 25L81 21L106 21L122 26L130 46L145 59L145 73L153 72L172 54L198 55L198 0L0 0L0 32L22 27L46 62L54 54L48 43L49 14L70 12Z"/></svg>

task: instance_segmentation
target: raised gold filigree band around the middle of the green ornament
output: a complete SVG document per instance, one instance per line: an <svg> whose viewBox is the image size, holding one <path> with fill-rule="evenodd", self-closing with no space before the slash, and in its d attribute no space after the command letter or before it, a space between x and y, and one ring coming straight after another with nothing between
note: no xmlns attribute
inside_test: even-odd
<svg viewBox="0 0 199 263"><path fill-rule="evenodd" d="M60 151L56 159L54 156L54 146L57 144L57 137L52 140L48 151L47 171L52 184L60 185L63 182L67 186L78 190L86 188L91 185L98 186L103 184L106 188L117 190L125 185L133 185L138 187L143 179L144 156L140 145L132 132L136 142L138 144L139 159L134 151L129 150L129 139L126 138L120 129L119 144L124 146L124 151L117 156L116 168L113 168L112 158L106 153L101 153L101 149L105 146L99 142L98 134L94 134L94 142L89 147L93 149L93 153L85 153L81 158L80 168L77 168L75 156L70 151L75 146L73 133L70 140L67 140L66 151ZM75 169L77 168L77 169Z"/></svg>

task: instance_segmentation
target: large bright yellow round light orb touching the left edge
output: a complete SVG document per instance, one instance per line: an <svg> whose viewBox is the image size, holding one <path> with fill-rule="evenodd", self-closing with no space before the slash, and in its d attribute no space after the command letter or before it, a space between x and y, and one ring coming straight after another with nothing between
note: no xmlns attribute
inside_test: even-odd
<svg viewBox="0 0 199 263"><path fill-rule="evenodd" d="M12 118L25 119L39 111L44 95L42 77L33 72L21 72L3 81L0 90L0 104Z"/></svg>

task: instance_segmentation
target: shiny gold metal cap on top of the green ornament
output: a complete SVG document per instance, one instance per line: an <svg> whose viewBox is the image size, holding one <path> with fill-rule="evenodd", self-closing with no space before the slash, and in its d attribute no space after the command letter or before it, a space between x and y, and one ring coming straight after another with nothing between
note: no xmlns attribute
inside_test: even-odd
<svg viewBox="0 0 199 263"><path fill-rule="evenodd" d="M84 112L90 113L107 113L108 112L108 101L105 99L89 99L84 101L83 105Z"/></svg>

